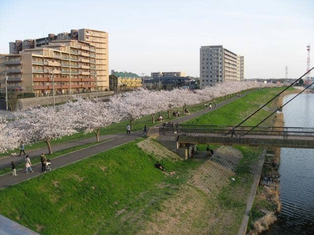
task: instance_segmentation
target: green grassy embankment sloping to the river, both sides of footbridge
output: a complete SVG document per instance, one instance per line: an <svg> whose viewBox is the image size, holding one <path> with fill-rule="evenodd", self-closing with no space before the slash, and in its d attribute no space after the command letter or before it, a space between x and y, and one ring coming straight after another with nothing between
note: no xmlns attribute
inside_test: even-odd
<svg viewBox="0 0 314 235"><path fill-rule="evenodd" d="M278 91L254 92L194 121L235 124ZM262 117L258 116L255 121ZM187 181L206 160L177 161L166 153L161 154L165 157L160 160L155 154L140 149L137 142L1 190L1 214L41 234L141 234L154 222L155 213L167 210L167 202L180 197L183 187L189 187ZM191 219L191 229L236 234L251 187L250 165L261 153L256 148L237 149L243 152L243 158L235 169L236 181L228 183L212 197L197 188L185 188L186 193L193 191L195 194L181 199L187 211L178 211L183 216L179 222L185 224L186 219ZM157 161L165 166L166 173L154 167ZM184 204L193 198L204 202L198 204L202 207L198 207L200 213L195 216L188 213L189 205ZM210 214L220 219L209 227L206 216Z"/></svg>

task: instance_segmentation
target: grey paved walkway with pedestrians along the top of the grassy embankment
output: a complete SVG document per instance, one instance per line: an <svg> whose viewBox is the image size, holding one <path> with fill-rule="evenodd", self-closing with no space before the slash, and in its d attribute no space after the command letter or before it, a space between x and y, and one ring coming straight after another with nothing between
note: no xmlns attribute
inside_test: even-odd
<svg viewBox="0 0 314 235"><path fill-rule="evenodd" d="M248 94L248 93L246 93L246 94ZM243 94L241 97L243 97L244 95L245 94ZM224 106L224 105L234 101L235 99L237 99L236 96L232 97L232 98L230 98L228 100L225 100L223 102L220 102L219 104L217 104L216 108L220 108L220 107L222 107L222 106ZM213 109L211 109L211 110L210 109L200 110L198 112L195 112L194 114L190 114L190 115L187 115L187 116L184 116L184 117L181 117L181 118L177 118L174 121L181 123L181 122L189 120L191 118L195 118L195 117L198 117L200 115L209 113L212 110ZM157 127L161 126L161 124L156 125L156 126ZM65 155L57 157L57 158L54 158L54 159L52 159L52 164L51 164L52 168L53 169L59 168L59 167L62 167L64 165L71 164L71 163L77 162L79 160L82 160L84 158L90 157L90 156L95 155L97 153L103 152L105 150L108 150L108 149L117 147L119 145L125 144L127 142L133 141L135 139L140 138L141 137L141 133L142 133L142 131L137 131L137 132L131 133L131 135L129 135L129 136L126 136L124 134L102 136L101 138L103 140L104 139L111 139L111 138L114 138L114 139L111 140L111 141L106 141L104 143L93 145L93 146L90 146L90 147L87 147L87 148L84 148L84 149L81 149L81 150L78 150L78 151L75 151L75 152L72 152L72 153L65 154ZM93 141L95 141L95 139ZM70 146L68 144L75 144L75 143L82 144L83 140L80 140L79 142L77 142L77 141L69 141L69 142L70 143L68 143L68 142L64 143L63 148L69 148ZM86 142L84 142L84 143L86 143ZM80 144L78 144L78 145L80 145ZM61 148L61 145L62 144L60 144L60 146L59 146L60 148ZM54 146L53 148L55 150L57 150L56 146ZM39 154L40 154L42 150L36 150L36 151L39 151ZM11 160L9 160L9 162L11 162ZM41 173L41 164L40 163L33 165L32 168L34 170L33 173L26 174L25 173L25 169L21 169L21 170L17 171L17 176L12 176L10 173L0 176L0 189L6 188L6 187L8 187L10 185L15 185L17 183L20 183L22 181L31 179L31 178L33 178L35 176L38 176L38 175L42 174Z"/></svg>

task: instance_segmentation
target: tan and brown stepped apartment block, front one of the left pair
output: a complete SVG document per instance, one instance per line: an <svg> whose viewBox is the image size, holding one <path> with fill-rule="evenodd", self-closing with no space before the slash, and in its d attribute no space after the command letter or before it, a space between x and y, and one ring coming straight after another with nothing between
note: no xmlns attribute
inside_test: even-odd
<svg viewBox="0 0 314 235"><path fill-rule="evenodd" d="M0 55L0 72L8 76L8 91L77 94L96 91L96 47L83 41L55 40L25 49L19 54ZM0 76L0 89L5 76Z"/></svg>

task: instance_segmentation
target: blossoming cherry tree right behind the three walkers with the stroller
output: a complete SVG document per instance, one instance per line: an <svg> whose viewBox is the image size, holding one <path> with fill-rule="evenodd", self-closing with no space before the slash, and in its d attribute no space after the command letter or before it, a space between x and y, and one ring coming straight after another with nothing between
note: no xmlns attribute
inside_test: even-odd
<svg viewBox="0 0 314 235"><path fill-rule="evenodd" d="M52 154L51 141L77 133L73 113L63 107L41 107L23 111L17 115L17 126L21 133L31 138L29 141L42 140L47 143Z"/></svg>

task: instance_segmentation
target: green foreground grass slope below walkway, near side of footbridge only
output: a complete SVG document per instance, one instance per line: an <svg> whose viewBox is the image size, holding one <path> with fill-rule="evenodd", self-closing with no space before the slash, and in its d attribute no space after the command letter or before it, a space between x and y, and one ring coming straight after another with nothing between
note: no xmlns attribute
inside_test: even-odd
<svg viewBox="0 0 314 235"><path fill-rule="evenodd" d="M201 164L163 159L177 179L158 170L157 159L136 143L1 190L1 214L41 234L136 233Z"/></svg>

